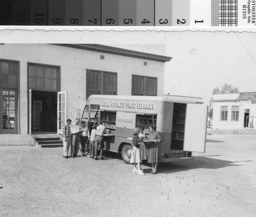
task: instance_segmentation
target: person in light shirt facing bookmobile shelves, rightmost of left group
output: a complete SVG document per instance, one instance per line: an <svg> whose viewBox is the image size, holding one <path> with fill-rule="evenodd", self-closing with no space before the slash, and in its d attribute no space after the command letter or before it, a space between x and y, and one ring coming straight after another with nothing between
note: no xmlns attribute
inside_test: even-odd
<svg viewBox="0 0 256 217"><path fill-rule="evenodd" d="M98 160L98 147L100 147L99 159L103 160L102 154L104 149L104 137L106 127L102 125L102 120L98 120L98 126L96 128L96 139L95 139L95 155L94 159Z"/></svg>

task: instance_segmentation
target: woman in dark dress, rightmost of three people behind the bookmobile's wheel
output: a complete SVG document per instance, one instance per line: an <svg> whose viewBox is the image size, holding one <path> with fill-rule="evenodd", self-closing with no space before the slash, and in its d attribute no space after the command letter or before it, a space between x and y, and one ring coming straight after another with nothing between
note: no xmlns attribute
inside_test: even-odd
<svg viewBox="0 0 256 217"><path fill-rule="evenodd" d="M159 143L162 142L161 134L156 131L156 125L150 125L150 134L148 135L148 157L147 163L151 163L152 165L152 174L157 173L157 165L159 162L158 151L159 151Z"/></svg>

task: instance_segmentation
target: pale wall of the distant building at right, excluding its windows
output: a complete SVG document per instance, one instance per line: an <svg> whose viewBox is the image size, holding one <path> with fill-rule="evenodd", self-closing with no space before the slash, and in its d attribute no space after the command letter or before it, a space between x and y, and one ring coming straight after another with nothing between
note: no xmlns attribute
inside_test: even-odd
<svg viewBox="0 0 256 217"><path fill-rule="evenodd" d="M239 120L231 121L231 107L239 105ZM221 106L228 106L227 120L221 121ZM250 110L250 116L256 116L256 104L248 101L221 101L213 103L212 129L243 129L245 109ZM250 118L253 127L256 127L256 119ZM255 125L255 126L254 126ZM249 125L248 125L249 126Z"/></svg>

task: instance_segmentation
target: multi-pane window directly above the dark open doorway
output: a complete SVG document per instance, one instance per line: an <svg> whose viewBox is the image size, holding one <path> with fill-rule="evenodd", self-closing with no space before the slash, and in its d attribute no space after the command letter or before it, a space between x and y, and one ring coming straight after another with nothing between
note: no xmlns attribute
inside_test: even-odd
<svg viewBox="0 0 256 217"><path fill-rule="evenodd" d="M29 64L29 88L34 90L58 91L59 69Z"/></svg>

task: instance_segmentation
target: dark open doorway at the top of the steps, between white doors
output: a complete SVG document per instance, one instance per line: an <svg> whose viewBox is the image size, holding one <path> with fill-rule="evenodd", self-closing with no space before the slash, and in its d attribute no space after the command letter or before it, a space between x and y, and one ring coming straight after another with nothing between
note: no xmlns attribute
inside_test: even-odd
<svg viewBox="0 0 256 217"><path fill-rule="evenodd" d="M32 134L57 133L57 92L31 92Z"/></svg>

